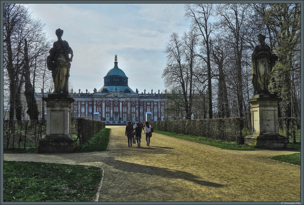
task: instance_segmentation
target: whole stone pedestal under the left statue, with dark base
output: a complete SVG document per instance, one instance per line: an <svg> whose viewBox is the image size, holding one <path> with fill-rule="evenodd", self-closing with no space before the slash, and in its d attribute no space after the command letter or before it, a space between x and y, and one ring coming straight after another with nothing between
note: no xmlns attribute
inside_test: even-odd
<svg viewBox="0 0 304 205"><path fill-rule="evenodd" d="M74 152L77 139L71 136L71 103L68 94L48 94L47 135L39 140L38 152Z"/></svg>

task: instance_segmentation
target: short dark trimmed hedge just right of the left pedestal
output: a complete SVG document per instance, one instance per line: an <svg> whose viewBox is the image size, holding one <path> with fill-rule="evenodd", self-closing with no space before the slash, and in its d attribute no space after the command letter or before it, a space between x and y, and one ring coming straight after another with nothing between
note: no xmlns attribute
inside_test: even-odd
<svg viewBox="0 0 304 205"><path fill-rule="evenodd" d="M105 128L105 121L77 118L75 128L78 132L79 144L85 144L94 137L100 130Z"/></svg>

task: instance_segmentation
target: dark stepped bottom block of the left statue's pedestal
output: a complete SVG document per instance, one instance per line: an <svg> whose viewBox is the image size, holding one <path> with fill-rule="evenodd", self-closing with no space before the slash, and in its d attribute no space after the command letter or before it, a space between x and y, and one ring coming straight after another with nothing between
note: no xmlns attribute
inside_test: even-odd
<svg viewBox="0 0 304 205"><path fill-rule="evenodd" d="M74 152L77 139L71 135L47 135L39 140L38 152Z"/></svg>

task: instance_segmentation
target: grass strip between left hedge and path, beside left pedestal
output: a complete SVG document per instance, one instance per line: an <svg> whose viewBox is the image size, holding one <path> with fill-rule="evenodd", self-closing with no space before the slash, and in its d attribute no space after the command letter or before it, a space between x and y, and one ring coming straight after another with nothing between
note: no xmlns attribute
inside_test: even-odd
<svg viewBox="0 0 304 205"><path fill-rule="evenodd" d="M106 150L109 144L111 129L103 128L84 145L77 146L76 152L96 152Z"/></svg>

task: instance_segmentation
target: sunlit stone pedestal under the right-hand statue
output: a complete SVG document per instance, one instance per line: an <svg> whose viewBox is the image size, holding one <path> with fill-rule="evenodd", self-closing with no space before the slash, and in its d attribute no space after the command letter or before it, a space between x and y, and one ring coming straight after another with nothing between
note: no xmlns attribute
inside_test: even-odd
<svg viewBox="0 0 304 205"><path fill-rule="evenodd" d="M287 139L279 134L278 102L282 98L271 94L254 95L247 102L251 106L251 135L244 137L244 144L265 149L287 147Z"/></svg>

